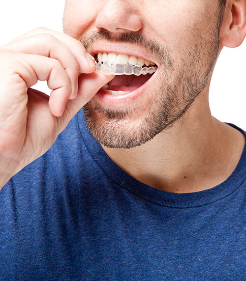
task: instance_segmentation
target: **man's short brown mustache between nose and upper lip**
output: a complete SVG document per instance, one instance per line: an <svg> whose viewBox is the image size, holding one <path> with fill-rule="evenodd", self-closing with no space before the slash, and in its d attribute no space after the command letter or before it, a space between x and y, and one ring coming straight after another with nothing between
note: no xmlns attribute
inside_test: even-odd
<svg viewBox="0 0 246 281"><path fill-rule="evenodd" d="M109 42L127 42L138 45L148 52L155 55L159 61L166 67L173 67L173 59L171 57L171 50L168 47L156 42L155 40L148 39L146 36L136 32L126 32L120 34L112 34L107 30L99 30L91 32L80 39L80 42L84 45L88 51L95 43L107 40Z"/></svg>

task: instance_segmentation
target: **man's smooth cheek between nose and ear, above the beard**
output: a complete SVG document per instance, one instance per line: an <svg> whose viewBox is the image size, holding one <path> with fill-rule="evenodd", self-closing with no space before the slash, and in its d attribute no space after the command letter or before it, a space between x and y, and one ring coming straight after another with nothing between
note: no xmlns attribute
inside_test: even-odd
<svg viewBox="0 0 246 281"><path fill-rule="evenodd" d="M162 42L175 57L179 57L188 45L197 43L199 36L209 37L216 12L211 2L160 1L156 7L149 4L145 14L147 37Z"/></svg>

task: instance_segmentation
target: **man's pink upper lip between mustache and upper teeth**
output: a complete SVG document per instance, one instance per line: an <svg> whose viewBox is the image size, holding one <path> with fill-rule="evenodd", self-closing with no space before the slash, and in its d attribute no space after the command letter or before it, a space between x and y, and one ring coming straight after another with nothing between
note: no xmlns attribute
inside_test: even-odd
<svg viewBox="0 0 246 281"><path fill-rule="evenodd" d="M137 58L141 58L145 61L153 62L157 66L160 65L160 62L154 57L151 53L144 50L143 47L138 45L125 43L125 42L107 42L100 41L97 44L93 45L89 48L88 53L95 57L95 54L99 52L107 52L107 53L116 53L116 54L128 54L134 55Z"/></svg>

